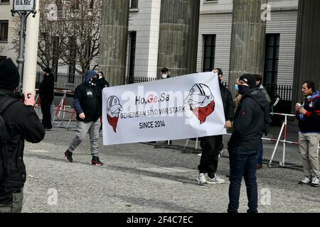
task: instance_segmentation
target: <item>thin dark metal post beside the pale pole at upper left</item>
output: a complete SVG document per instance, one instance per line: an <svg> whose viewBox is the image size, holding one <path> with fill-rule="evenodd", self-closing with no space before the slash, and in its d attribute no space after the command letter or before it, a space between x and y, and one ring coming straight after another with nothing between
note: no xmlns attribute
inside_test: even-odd
<svg viewBox="0 0 320 227"><path fill-rule="evenodd" d="M22 87L22 80L23 80L23 63L24 63L24 38L25 38L25 28L26 28L26 15L27 13L22 12L20 14L21 17L21 24L20 24L20 45L19 45L19 55L16 59L16 62L18 63L18 72L20 74L20 82L18 86L18 91L21 91Z"/></svg>

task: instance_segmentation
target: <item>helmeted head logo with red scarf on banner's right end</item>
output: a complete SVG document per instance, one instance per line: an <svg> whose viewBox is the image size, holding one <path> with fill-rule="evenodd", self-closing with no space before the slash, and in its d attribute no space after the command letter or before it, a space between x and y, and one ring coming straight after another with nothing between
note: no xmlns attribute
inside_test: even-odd
<svg viewBox="0 0 320 227"><path fill-rule="evenodd" d="M206 84L193 85L184 103L189 104L200 124L205 123L206 118L215 110L215 99Z"/></svg>

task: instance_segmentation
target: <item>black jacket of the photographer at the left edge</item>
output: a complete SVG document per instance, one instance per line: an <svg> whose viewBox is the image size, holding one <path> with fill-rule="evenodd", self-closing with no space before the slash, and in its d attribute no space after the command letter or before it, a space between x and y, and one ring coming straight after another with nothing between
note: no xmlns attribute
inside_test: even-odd
<svg viewBox="0 0 320 227"><path fill-rule="evenodd" d="M4 99L0 94L0 104ZM14 99L14 98L12 98ZM1 116L6 123L6 141L9 153L9 175L0 181L0 204L10 204L12 193L17 193L26 182L26 167L23 162L24 140L38 143L46 132L33 106L14 101Z"/></svg>

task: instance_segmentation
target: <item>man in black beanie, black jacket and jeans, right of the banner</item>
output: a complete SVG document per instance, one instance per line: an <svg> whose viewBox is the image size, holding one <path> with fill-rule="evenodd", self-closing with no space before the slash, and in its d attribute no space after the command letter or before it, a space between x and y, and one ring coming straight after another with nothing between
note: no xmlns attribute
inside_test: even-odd
<svg viewBox="0 0 320 227"><path fill-rule="evenodd" d="M242 177L247 187L248 213L257 213L257 153L263 131L270 122L269 104L257 89L256 77L244 74L239 78L242 95L235 112L233 133L228 143L230 186L228 213L238 213Z"/></svg>

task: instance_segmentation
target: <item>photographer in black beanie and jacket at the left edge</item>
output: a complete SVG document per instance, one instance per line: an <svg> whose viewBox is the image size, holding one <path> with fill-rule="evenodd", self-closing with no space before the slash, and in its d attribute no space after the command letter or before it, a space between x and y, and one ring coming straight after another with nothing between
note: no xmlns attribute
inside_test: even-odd
<svg viewBox="0 0 320 227"><path fill-rule="evenodd" d="M26 182L24 140L39 143L45 135L43 125L33 109L34 94L30 97L24 94L23 102L14 98L14 90L18 84L18 69L14 62L8 59L0 65L0 109L3 109L2 105L6 101L11 102L1 112L6 125L6 153L9 154L9 160L1 160L6 169L0 165L0 213L21 212L23 186Z"/></svg>

